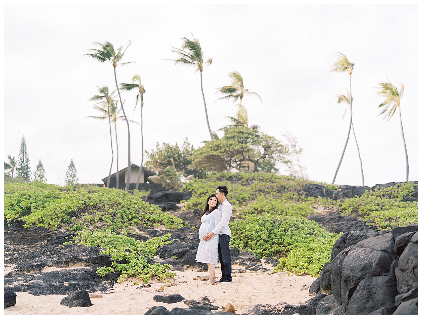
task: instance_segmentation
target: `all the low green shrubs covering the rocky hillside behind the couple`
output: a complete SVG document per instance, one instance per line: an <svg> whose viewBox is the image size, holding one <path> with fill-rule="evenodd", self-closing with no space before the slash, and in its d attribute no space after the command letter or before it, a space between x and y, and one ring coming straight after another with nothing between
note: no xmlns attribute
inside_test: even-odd
<svg viewBox="0 0 422 319"><path fill-rule="evenodd" d="M417 202L405 202L415 191L413 183L367 191L360 197L334 201L306 197L301 191L306 180L271 173L218 173L206 179L195 179L180 189L191 192L185 210L203 208L206 197L218 185L229 189L227 198L233 204L235 220L231 245L256 256L279 258L279 270L317 275L341 234L331 234L315 221L305 217L316 209L330 209L361 218L379 229L417 224ZM325 185L325 184L323 184ZM336 185L325 185L336 189ZM100 275L121 271L121 279L136 276L144 282L151 278L165 280L171 273L165 266L146 263L144 256L170 243L167 237L144 243L125 236L133 226L164 226L179 229L189 226L181 219L145 201L149 192L126 192L97 186L59 187L43 183L5 185L5 219L20 219L24 227L76 232L76 243L106 248L116 262L98 270ZM118 231L118 232L116 232ZM126 264L117 261L125 259Z"/></svg>

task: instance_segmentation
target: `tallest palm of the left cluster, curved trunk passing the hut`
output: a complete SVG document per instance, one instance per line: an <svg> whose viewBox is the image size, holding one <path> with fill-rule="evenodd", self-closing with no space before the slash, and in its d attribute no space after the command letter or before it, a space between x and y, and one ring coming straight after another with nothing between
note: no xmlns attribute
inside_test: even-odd
<svg viewBox="0 0 422 319"><path fill-rule="evenodd" d="M117 51L114 49L113 44L111 44L110 42L106 41L104 44L101 44L100 42L94 42L93 44L95 46L99 46L100 49L90 49L89 51L93 52L93 53L87 53L85 55L88 55L89 57L92 57L95 60L100 61L101 63L109 61L111 62L111 65L113 65L113 69L114 69L114 80L116 82L116 89L117 89L117 93L119 93L119 100L120 100L120 105L122 106L122 111L123 111L123 115L124 115L124 120L126 121L127 124L127 183L126 183L126 191L129 190L129 184L130 184L130 167L131 167L131 162L130 162L130 130L129 130L129 121L127 120L126 117L126 113L124 112L124 108L123 108L123 103L122 103L122 97L120 96L120 90L119 90L119 86L117 85L117 76L116 76L116 67L117 65L124 65L124 64L128 64L128 63L133 63L133 62L125 62L125 63L119 63L120 60L122 60L124 53L126 52L127 48L130 46L131 41L129 41L129 44L126 46L126 48L123 50L123 46L120 46ZM119 174L119 172L117 172L117 174ZM119 187L119 185L117 185L117 188Z"/></svg>

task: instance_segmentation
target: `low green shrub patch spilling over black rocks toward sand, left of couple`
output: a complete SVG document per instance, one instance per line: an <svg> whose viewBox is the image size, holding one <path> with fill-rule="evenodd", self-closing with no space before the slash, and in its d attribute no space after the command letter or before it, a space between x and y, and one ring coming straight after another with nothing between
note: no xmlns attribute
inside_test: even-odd
<svg viewBox="0 0 422 319"><path fill-rule="evenodd" d="M150 279L165 281L174 278L175 273L169 271L170 266L168 264L155 263L151 265L146 262L145 258L145 256L154 257L158 247L173 242L173 240L168 240L170 234L154 237L145 242L121 234L118 235L111 232L110 229L95 230L94 232L85 230L77 234L79 237L75 237L76 244L106 248L106 251L102 251L100 254L110 255L111 259L114 260L111 267L104 266L97 269L97 273L101 277L104 277L107 273L119 271L122 273L119 281L127 277L139 277L145 284ZM119 263L118 261L122 259L126 262Z"/></svg>

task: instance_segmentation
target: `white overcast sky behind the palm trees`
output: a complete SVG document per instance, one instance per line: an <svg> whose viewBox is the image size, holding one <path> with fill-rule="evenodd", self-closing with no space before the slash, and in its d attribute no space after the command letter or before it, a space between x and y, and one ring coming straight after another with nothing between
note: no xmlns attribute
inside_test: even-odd
<svg viewBox="0 0 422 319"><path fill-rule="evenodd" d="M348 131L345 93L349 76L330 73L336 52L355 63L352 75L353 123L365 173L365 184L406 180L406 160L398 114L377 117L382 98L378 82L405 85L402 120L409 158L409 180L417 180L417 7L416 5L271 5L244 3L181 5L117 2L8 2L5 4L5 151L18 157L24 135L31 171L41 159L48 183L62 184L70 159L80 183L101 183L111 162L108 123L89 101L96 86L115 89L110 63L85 56L94 41L115 47L128 40L117 68L119 83L140 74L145 85L144 145L195 147L209 139L195 68L174 65L170 46L181 37L200 40L213 63L203 71L211 129L235 116L230 101L214 101L215 88L229 85L237 70L245 87L262 97L244 98L251 124L281 139L297 136L311 180L330 183ZM135 93L123 93L130 118ZM118 123L119 168L127 166L126 124ZM141 134L130 126L132 161L141 162ZM222 131L217 131L222 136ZM115 167L115 166L114 166ZM115 171L115 168L113 169ZM354 139L349 139L336 184L360 185Z"/></svg>

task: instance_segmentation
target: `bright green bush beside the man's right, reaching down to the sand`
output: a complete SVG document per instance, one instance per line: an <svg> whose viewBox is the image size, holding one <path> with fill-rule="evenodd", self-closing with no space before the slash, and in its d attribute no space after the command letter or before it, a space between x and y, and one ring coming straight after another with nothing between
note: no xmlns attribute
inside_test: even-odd
<svg viewBox="0 0 422 319"><path fill-rule="evenodd" d="M330 261L335 240L341 234L330 234L315 221L302 217L247 215L230 223L230 244L256 256L282 255L277 270L296 274L318 275Z"/></svg>

